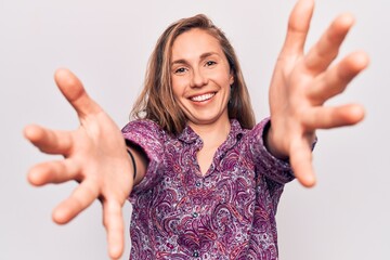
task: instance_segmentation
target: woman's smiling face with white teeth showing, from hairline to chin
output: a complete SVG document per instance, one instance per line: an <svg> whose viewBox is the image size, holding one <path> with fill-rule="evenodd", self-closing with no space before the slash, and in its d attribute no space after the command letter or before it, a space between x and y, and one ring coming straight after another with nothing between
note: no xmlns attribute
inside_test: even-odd
<svg viewBox="0 0 390 260"><path fill-rule="evenodd" d="M219 41L202 29L178 36L171 53L172 91L188 125L229 122L233 75Z"/></svg>

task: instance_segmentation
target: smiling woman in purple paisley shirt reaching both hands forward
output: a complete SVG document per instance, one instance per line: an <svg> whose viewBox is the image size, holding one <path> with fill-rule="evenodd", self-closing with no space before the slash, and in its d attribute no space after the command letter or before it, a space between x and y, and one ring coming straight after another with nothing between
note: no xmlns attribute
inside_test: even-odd
<svg viewBox="0 0 390 260"><path fill-rule="evenodd" d="M348 14L303 54L313 4L300 0L291 12L270 87L271 116L258 125L234 50L205 15L181 20L161 35L136 119L122 131L76 76L58 69L56 83L80 128L25 129L42 152L65 157L31 168L34 185L80 183L53 211L54 221L66 223L101 199L109 255L118 258L121 206L130 195L132 259L277 259L277 203L294 178L315 183L315 130L364 117L359 105L323 106L368 58L355 52L329 66L353 24Z"/></svg>

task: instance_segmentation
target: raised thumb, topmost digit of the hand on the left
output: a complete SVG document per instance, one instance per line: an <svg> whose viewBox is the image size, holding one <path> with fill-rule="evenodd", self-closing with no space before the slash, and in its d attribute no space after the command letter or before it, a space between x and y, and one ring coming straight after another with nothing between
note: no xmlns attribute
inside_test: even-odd
<svg viewBox="0 0 390 260"><path fill-rule="evenodd" d="M68 69L55 72L54 79L61 92L80 117L101 112L100 106L89 98L81 81Z"/></svg>

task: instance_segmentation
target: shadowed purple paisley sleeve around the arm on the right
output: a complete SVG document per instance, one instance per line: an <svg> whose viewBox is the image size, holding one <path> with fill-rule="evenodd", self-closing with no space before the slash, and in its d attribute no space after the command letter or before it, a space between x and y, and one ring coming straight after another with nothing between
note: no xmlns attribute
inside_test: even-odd
<svg viewBox="0 0 390 260"><path fill-rule="evenodd" d="M264 145L263 134L270 123L270 118L265 118L250 131L249 150L260 174L276 183L285 184L292 181L295 177L289 161L274 157Z"/></svg>

